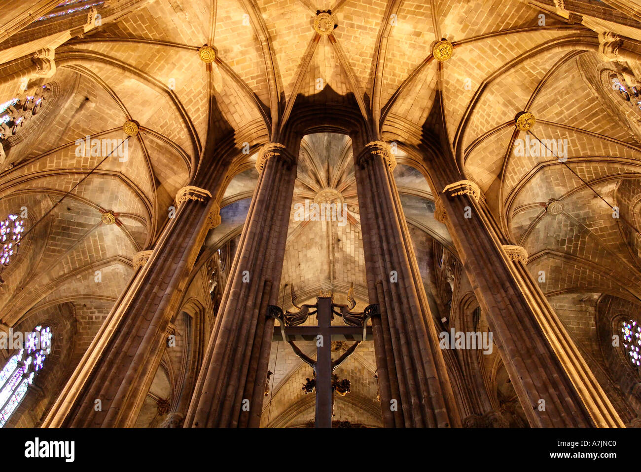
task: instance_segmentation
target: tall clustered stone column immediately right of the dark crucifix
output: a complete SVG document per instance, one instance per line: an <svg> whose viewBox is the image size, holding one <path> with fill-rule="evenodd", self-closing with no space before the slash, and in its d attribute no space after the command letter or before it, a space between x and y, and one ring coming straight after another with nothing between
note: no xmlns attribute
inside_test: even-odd
<svg viewBox="0 0 641 472"><path fill-rule="evenodd" d="M392 177L394 155L380 141L354 153L367 288L383 422L387 427L459 426L452 387ZM394 406L397 409L394 409Z"/></svg>

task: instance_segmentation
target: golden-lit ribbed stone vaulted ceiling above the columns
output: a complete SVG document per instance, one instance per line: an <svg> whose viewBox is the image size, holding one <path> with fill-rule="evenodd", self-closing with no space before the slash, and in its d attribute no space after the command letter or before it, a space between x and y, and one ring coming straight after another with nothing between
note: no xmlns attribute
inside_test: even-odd
<svg viewBox="0 0 641 472"><path fill-rule="evenodd" d="M67 8L32 3L43 12ZM608 9L617 2L574 3ZM554 4L105 0L93 7L101 24L91 14L87 20L91 9L26 23L28 9L0 17L0 102L45 83L51 89L38 119L2 141L1 213L28 207L27 229L44 220L3 272L0 318L11 325L69 302L93 304L104 316L124 290L134 254L153 247L176 191L231 140L252 152L235 155L220 190L222 223L206 249L236 236L256 186L255 151L278 141L301 101L328 113L351 109L374 139L397 143L394 175L412 231L451 247L433 220L419 153L437 91L459 166L481 187L506 237L528 250L529 270L545 270L548 297L608 293L638 301L641 110L610 86L622 67L599 49L604 26L587 15L582 24ZM331 10L331 35L313 29L317 10ZM640 40L637 21L629 17L621 28ZM454 45L444 63L431 55L442 38ZM212 64L199 59L204 44L217 49ZM43 48L54 50L55 67L24 91L12 74ZM515 140L525 135L513 120L522 110L535 114L537 137L567 140L567 161L515 155ZM97 166L101 157L76 155L76 140L87 135L125 139L129 119L140 133L129 139L126 161ZM301 145L294 203L329 188L351 214L344 227L290 221L283 284L308 287L303 298L319 287L345 292L354 282L366 302L352 162L343 135L309 135ZM612 218L597 193L624 218ZM114 224L101 220L106 211Z"/></svg>

